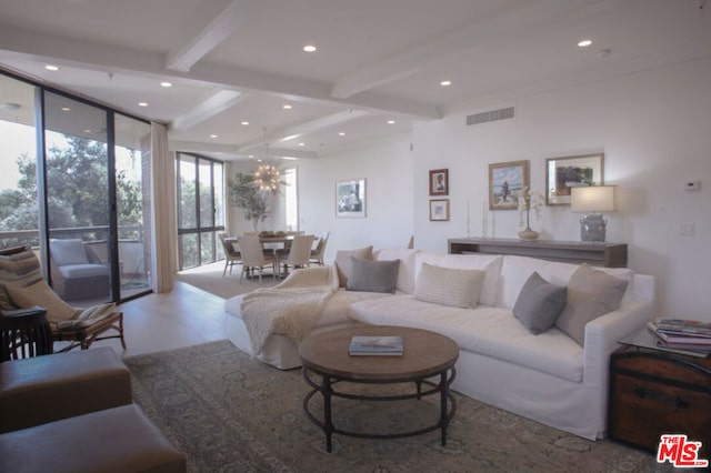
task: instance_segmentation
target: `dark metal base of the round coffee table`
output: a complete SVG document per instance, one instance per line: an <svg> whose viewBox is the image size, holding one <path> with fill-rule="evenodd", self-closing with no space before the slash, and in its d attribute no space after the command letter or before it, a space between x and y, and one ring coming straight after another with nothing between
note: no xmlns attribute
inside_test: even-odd
<svg viewBox="0 0 711 473"><path fill-rule="evenodd" d="M421 435L428 432L432 432L434 430L441 430L441 442L442 445L447 444L447 426L449 425L449 421L454 416L454 412L457 411L457 401L452 393L450 392L450 385L454 381L457 376L457 370L454 366L450 366L439 374L440 381L439 383L431 382L425 379L399 379L399 380L353 380L353 379L339 379L334 376L330 376L327 374L314 372L313 370L303 366L301 369L301 374L306 380L307 384L311 386L311 391L306 395L303 400L303 411L307 414L307 417L316 425L320 426L326 434L326 450L331 452L332 442L331 437L336 434L353 436L353 437L362 437L362 439L400 439L405 436ZM320 376L321 382L314 381L314 376ZM398 394L398 395L360 395L360 394L351 394L346 392L338 392L333 389L341 381L348 381L351 383L365 383L365 384L400 384L412 382L415 385L415 392L411 394ZM424 390L422 386L425 386ZM321 393L323 397L323 421L320 421L316 415L312 414L309 409L309 404L314 394ZM337 429L333 425L333 415L331 410L331 399L343 397L349 400L361 400L361 401L405 401L412 399L421 399L428 395L440 394L440 415L437 423L409 431L409 432L398 432L398 433L382 433L382 434L373 434L373 433L364 433L364 432L353 432L347 431L342 429Z"/></svg>

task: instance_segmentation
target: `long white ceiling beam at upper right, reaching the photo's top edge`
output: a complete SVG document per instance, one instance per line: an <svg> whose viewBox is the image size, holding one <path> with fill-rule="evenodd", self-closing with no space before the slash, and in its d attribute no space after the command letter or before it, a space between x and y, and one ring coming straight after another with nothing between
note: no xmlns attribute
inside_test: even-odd
<svg viewBox="0 0 711 473"><path fill-rule="evenodd" d="M550 22L571 9L599 3L601 0L570 0L561 7L560 1L535 0L522 2L521 7L493 18L482 19L450 34L437 38L379 62L373 62L339 79L331 97L348 99L367 90L412 76L443 61L449 61L472 49L510 40L512 34Z"/></svg>

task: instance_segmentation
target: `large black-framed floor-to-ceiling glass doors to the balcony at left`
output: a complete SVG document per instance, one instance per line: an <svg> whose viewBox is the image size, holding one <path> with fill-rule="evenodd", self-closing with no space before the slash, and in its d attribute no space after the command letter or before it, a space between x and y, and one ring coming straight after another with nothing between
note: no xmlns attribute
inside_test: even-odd
<svg viewBox="0 0 711 473"><path fill-rule="evenodd" d="M149 123L0 73L0 246L34 248L76 305L148 292ZM74 243L97 275L60 270Z"/></svg>

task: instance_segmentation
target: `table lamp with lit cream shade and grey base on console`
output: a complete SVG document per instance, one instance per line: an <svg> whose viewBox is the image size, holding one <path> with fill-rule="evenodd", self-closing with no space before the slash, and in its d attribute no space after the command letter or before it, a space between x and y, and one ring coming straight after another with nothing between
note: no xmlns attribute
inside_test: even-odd
<svg viewBox="0 0 711 473"><path fill-rule="evenodd" d="M614 190L617 185L593 185L571 188L570 210L585 212L580 219L580 240L604 242L608 221L602 212L614 212Z"/></svg>

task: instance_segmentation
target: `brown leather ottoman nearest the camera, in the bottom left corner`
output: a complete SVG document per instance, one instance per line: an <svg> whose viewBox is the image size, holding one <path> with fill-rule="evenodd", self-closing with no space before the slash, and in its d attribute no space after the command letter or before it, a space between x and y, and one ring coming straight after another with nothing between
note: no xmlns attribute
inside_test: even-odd
<svg viewBox="0 0 711 473"><path fill-rule="evenodd" d="M0 434L2 472L184 472L186 457L134 404Z"/></svg>

